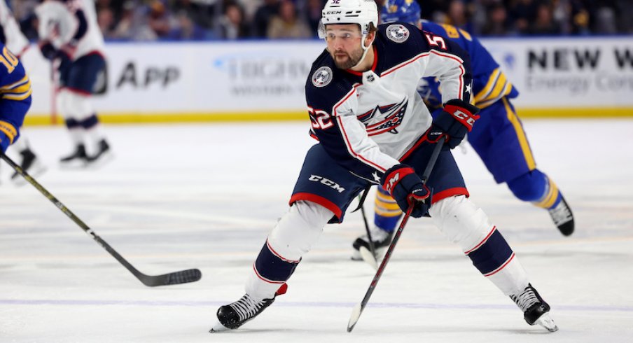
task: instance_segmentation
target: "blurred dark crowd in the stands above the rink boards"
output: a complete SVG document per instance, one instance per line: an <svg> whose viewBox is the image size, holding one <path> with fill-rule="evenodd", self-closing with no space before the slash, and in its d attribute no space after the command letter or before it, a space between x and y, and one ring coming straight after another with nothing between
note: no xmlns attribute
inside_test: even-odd
<svg viewBox="0 0 633 343"><path fill-rule="evenodd" d="M312 38L326 0L95 0L109 40ZM416 0L414 0L416 1ZM479 36L632 34L633 0L417 0L422 18ZM36 38L39 0L11 0Z"/></svg>

